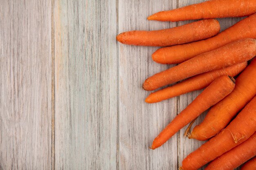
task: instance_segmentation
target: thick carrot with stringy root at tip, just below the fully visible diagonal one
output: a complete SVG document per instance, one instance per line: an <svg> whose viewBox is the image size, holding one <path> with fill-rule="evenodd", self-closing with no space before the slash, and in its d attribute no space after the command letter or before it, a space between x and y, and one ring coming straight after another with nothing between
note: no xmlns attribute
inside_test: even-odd
<svg viewBox="0 0 256 170"><path fill-rule="evenodd" d="M207 113L204 121L192 130L189 138L207 140L225 128L229 121L256 95L256 58L237 77L231 94Z"/></svg>

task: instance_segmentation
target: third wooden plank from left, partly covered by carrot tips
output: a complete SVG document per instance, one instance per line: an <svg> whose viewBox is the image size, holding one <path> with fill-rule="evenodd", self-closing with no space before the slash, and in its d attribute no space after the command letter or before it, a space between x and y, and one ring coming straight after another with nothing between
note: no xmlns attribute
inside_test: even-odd
<svg viewBox="0 0 256 170"><path fill-rule="evenodd" d="M156 30L176 23L146 20L160 10L176 7L170 0L119 1L119 33L131 30ZM150 92L141 86L144 80L166 68L151 60L155 47L127 46L119 43L119 169L177 169L177 135L164 146L150 150L153 139L176 115L176 98L146 104Z"/></svg>

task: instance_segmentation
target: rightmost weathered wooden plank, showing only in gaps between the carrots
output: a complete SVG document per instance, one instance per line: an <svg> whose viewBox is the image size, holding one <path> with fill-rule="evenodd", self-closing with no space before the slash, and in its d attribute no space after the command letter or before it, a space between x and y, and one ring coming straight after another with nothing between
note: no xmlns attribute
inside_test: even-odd
<svg viewBox="0 0 256 170"><path fill-rule="evenodd" d="M179 0L179 7L184 7L186 5L189 4L195 4L195 3L199 3L199 2L204 2L204 0ZM231 25L235 24L236 22L238 22L239 20L241 20L241 18L221 18L218 19L218 21L220 22L220 26L221 26L221 31L227 29L228 27L230 27ZM189 22L193 22L193 21L184 21L184 22L178 22L178 25L183 25ZM180 107L179 107L179 112L182 111L184 108L186 108L186 106L188 104L190 104L193 99L195 99L195 97L197 97L201 91L195 91L195 92L191 92L185 95L181 95L179 97L180 100ZM198 119L195 121L195 123L193 124L191 130L193 129L193 127L197 124L200 124L200 122L202 122L202 120L204 119L205 115L207 112L203 113L202 115L200 115L200 117L198 117ZM189 155L189 153L193 152L194 150L196 150L198 147L200 147L204 142L203 141L197 141L194 139L188 139L183 137L184 135L184 131L186 130L186 127L183 128L182 130L180 130L180 156L179 156L179 162L180 165L182 164L182 160ZM206 167L206 166L204 166ZM203 170L204 168L201 168L201 170ZM239 170L240 168L238 168L237 170Z"/></svg>

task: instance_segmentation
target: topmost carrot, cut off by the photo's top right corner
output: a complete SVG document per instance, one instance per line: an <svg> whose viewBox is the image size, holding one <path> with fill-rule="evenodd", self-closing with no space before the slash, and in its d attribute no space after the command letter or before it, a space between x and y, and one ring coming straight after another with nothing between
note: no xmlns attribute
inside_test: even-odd
<svg viewBox="0 0 256 170"><path fill-rule="evenodd" d="M148 17L157 21L184 21L207 18L242 17L256 13L255 0L209 0L186 7L161 11Z"/></svg>

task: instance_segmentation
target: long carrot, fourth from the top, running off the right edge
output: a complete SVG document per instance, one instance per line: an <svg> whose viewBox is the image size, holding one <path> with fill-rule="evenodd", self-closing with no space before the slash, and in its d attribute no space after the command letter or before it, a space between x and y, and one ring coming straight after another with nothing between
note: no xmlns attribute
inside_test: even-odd
<svg viewBox="0 0 256 170"><path fill-rule="evenodd" d="M149 77L144 82L143 88L152 91L193 75L248 61L255 55L256 40L249 38L238 40Z"/></svg>

